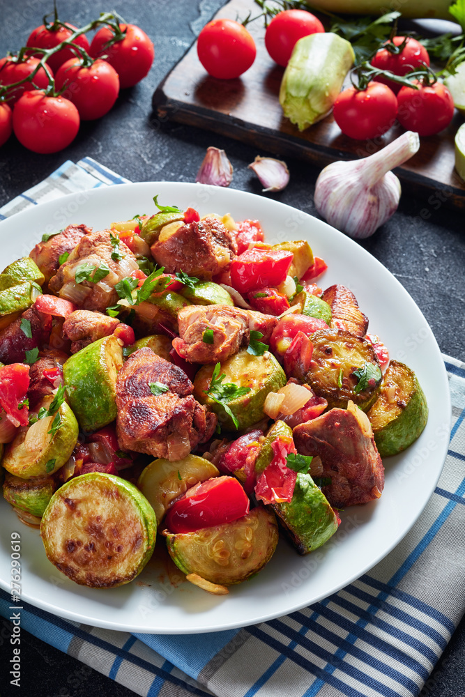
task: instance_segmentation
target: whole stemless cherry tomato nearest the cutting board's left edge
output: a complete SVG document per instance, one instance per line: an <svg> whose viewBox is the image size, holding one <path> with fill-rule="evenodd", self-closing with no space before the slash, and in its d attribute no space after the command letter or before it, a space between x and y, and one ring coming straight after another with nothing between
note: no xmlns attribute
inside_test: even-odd
<svg viewBox="0 0 465 697"><path fill-rule="evenodd" d="M234 20L213 20L197 39L197 55L208 75L233 79L248 70L255 60L255 42L245 26Z"/></svg>

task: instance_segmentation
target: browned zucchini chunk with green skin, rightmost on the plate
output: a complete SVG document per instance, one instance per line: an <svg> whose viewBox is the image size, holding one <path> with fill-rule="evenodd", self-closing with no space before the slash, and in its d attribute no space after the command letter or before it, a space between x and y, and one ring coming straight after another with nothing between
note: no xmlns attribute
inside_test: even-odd
<svg viewBox="0 0 465 697"><path fill-rule="evenodd" d="M428 405L413 370L391 360L367 416L381 457L402 452L416 441L426 426Z"/></svg>

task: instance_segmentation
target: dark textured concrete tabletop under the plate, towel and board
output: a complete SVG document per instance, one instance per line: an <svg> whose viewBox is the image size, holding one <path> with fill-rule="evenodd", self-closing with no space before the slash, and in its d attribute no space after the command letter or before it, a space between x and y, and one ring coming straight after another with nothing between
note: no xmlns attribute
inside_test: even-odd
<svg viewBox="0 0 465 697"><path fill-rule="evenodd" d="M41 181L64 160L91 155L131 181L195 181L208 146L229 155L234 166L231 187L259 194L259 182L247 169L257 153L253 148L210 132L176 123L160 123L151 114L151 95L174 63L181 58L222 0L59 0L61 19L83 26L98 13L115 9L125 20L138 24L155 44L155 62L148 77L119 96L112 112L96 122L84 123L66 150L36 155L13 137L0 149L0 206ZM0 0L0 56L18 49L30 31L52 10L50 0L15 3ZM288 160L291 183L273 198L315 213L312 194L318 170ZM464 358L464 214L450 210L440 196L428 200L402 197L399 210L363 246L379 259L416 300L441 351ZM0 664L9 651L0 645ZM465 694L465 622L452 637L422 696L456 697ZM24 633L24 665L20 689L1 684L0 695L9 697L80 697L89 695L130 697L134 693L79 661Z"/></svg>

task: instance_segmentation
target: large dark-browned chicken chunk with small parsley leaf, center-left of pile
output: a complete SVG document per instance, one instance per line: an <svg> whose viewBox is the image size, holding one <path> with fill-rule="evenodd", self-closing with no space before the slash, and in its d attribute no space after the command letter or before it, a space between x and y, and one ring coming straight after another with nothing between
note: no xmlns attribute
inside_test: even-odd
<svg viewBox="0 0 465 697"><path fill-rule="evenodd" d="M119 447L174 461L208 441L217 418L192 397L193 389L181 368L151 348L132 353L116 380Z"/></svg>

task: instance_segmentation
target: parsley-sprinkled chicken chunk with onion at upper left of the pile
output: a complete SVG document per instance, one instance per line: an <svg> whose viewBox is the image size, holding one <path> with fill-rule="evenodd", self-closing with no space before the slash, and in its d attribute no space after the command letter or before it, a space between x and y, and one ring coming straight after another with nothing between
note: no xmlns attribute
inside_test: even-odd
<svg viewBox="0 0 465 697"><path fill-rule="evenodd" d="M135 255L123 241L119 243L119 252L122 258L112 259L114 247L109 230L85 235L68 256L68 261L63 263L56 275L49 280L49 289L82 309L105 312L109 305L115 305L119 300L119 295L114 289L116 283L130 276L132 271L139 270ZM100 281L94 283L84 279L76 283L75 276L79 267L79 270L87 270L93 275L94 270L100 268L103 262L109 268L109 272Z"/></svg>

